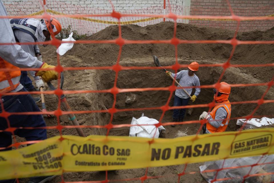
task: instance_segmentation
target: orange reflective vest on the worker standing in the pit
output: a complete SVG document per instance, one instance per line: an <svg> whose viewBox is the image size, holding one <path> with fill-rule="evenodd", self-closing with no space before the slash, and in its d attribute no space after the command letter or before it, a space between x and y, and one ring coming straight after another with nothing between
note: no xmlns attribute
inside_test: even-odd
<svg viewBox="0 0 274 183"><path fill-rule="evenodd" d="M210 132L210 133L215 133L215 132L224 132L227 128L227 125L229 123L229 119L231 116L231 105L230 102L224 102L222 105L218 105L215 106L213 108L213 110L210 112L210 116L211 118L213 118L213 120L215 120L215 115L216 115L216 111L219 108L225 108L226 112L227 112L227 117L223 120L223 122L221 123L221 125L219 126L219 128L215 128L214 126L212 126L209 122L206 123L206 129Z"/></svg>

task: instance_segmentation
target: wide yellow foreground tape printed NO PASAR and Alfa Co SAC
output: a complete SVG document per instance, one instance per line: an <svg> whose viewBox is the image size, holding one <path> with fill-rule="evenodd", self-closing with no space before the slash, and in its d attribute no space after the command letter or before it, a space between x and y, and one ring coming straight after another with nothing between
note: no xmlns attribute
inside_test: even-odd
<svg viewBox="0 0 274 183"><path fill-rule="evenodd" d="M60 136L0 152L0 180L60 175L274 154L274 128L224 132L175 139L125 136Z"/></svg>

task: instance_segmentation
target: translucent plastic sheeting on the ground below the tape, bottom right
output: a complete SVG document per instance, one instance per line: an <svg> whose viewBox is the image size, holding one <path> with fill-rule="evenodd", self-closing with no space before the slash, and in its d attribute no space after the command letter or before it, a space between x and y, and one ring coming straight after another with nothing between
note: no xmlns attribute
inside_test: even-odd
<svg viewBox="0 0 274 183"><path fill-rule="evenodd" d="M226 182L226 183L241 183L243 177L247 174L261 174L261 173L270 173L274 171L273 164L268 164L274 161L274 155L266 156L251 156L243 158L231 158L224 160L210 161L205 162L203 166L200 166L200 172L202 176L206 179L207 182L211 182L215 179L216 172L203 172L204 170L218 170L221 168L228 167L241 167L241 168L232 168L232 169L223 169L218 172L217 179L221 178L233 178L227 181L216 181L217 183ZM253 164L259 164L251 166ZM250 172L249 172L250 171ZM273 182L274 175L263 175L263 176L251 176L245 179L245 183L269 183Z"/></svg>

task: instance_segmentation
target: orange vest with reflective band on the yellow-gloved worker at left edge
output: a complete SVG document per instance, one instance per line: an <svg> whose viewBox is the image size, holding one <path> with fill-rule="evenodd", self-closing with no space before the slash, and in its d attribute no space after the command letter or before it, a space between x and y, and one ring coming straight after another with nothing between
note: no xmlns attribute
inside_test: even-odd
<svg viewBox="0 0 274 183"><path fill-rule="evenodd" d="M0 92L10 92L19 85L21 71L19 67L12 65L0 57L0 68L17 69L0 71Z"/></svg>

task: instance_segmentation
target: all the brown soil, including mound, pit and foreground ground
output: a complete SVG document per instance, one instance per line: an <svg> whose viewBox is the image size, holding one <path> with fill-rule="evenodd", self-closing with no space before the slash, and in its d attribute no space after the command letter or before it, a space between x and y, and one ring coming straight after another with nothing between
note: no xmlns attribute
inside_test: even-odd
<svg viewBox="0 0 274 183"><path fill-rule="evenodd" d="M190 24L177 24L176 36L187 40L227 40L234 35L233 31L217 28L196 27ZM140 27L138 25L123 25L122 37L129 40L165 40L171 39L174 32L173 22L162 22L155 25ZM85 40L116 39L118 37L118 27L110 26L101 30ZM273 40L274 28L267 31L251 31L238 33L239 40ZM227 61L232 47L226 44L180 44L178 45L178 62L189 64L197 61L199 64L215 64ZM56 65L56 48L52 45L46 48L41 47L43 61ZM60 56L61 65L64 67L92 67L110 66L116 64L119 53L119 46L115 44L75 44L64 56ZM122 66L154 66L152 55L157 55L161 65L168 66L175 64L175 49L168 44L130 44L122 47L120 65ZM274 46L271 45L239 45L236 47L231 64L264 64L273 63ZM186 68L181 68L186 69ZM171 72L175 72L170 70ZM201 85L215 83L223 71L222 67L200 67L196 75L200 79ZM273 77L273 67L231 67L227 69L221 79L227 83L263 83L271 81ZM114 85L115 72L112 70L73 70L66 71L64 90L103 90L110 89ZM55 83L55 82L53 82ZM123 70L118 73L118 88L146 88L146 87L167 87L172 84L164 71L160 69ZM46 89L48 89L46 87ZM232 87L229 96L230 102L258 100L264 94L267 86L252 87ZM136 101L126 104L126 96L135 94ZM169 91L146 91L146 92L125 92L117 94L116 108L144 108L159 107L168 102ZM274 89L270 88L265 95L265 100L273 100ZM72 110L104 110L112 107L114 98L109 93L86 93L67 95L68 103ZM173 106L174 93L169 102ZM47 110L56 110L58 106L57 97L45 95ZM194 103L206 104L213 101L212 88L201 89L200 95ZM251 114L257 104L237 104L232 106L231 118L239 118ZM41 107L41 106L40 106ZM255 112L259 116L273 117L273 103L262 104ZM198 120L203 111L208 108L194 108L191 115L186 115L184 121ZM149 118L160 119L161 110L140 110L115 113L113 124L130 124L132 117L139 118L141 114ZM89 113L76 115L78 121L83 125L105 125L110 121L108 113ZM61 116L62 125L71 125L67 116ZM172 111L164 114L162 122L172 121ZM47 126L57 124L56 118L46 119ZM165 138L174 138L175 134L188 128L188 135L194 135L200 128L200 124L178 125L176 127L165 126ZM227 131L235 131L236 120L230 120ZM83 129L86 135L106 134L104 129ZM63 134L77 135L74 129L63 129ZM128 136L129 128L117 128L110 130L110 135ZM58 130L48 130L48 137L59 135ZM196 172L186 174L181 177L180 182L205 182L199 173L199 166L204 163L187 165L186 172ZM148 168L148 176L163 176L161 178L148 179L145 182L178 182L178 173L183 172L185 165L165 166ZM108 179L131 179L144 176L145 169L118 170L108 173ZM65 181L91 181L104 180L105 172L76 172L64 173ZM60 182L61 178L55 178L52 182ZM122 181L118 181L122 182ZM126 181L124 181L126 182ZM140 180L130 180L128 182L141 182Z"/></svg>

